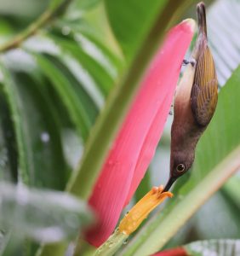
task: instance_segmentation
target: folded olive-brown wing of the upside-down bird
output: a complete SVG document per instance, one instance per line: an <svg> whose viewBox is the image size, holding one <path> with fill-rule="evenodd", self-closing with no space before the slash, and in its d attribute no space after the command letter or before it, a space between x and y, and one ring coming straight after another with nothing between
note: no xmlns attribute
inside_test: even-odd
<svg viewBox="0 0 240 256"><path fill-rule="evenodd" d="M218 101L218 81L208 46L199 55L196 65L191 89L191 110L197 124L205 126L212 119Z"/></svg>

